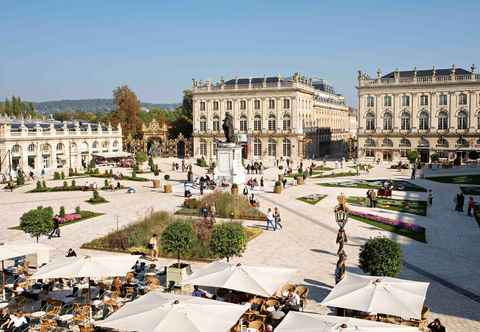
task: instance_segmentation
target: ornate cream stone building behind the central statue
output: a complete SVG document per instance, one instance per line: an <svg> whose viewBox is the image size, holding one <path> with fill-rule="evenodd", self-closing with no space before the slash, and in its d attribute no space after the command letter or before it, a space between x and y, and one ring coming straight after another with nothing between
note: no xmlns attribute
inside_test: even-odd
<svg viewBox="0 0 480 332"><path fill-rule="evenodd" d="M345 98L323 80L291 77L193 81L193 154L214 160L225 114L233 116L242 156L302 159L342 153L350 136Z"/></svg>

